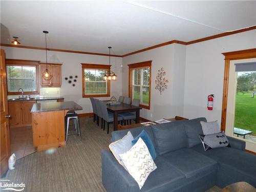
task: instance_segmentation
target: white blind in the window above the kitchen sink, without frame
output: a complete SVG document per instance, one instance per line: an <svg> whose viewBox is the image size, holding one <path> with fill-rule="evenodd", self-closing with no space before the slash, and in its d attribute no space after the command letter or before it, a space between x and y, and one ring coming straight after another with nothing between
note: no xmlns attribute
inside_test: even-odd
<svg viewBox="0 0 256 192"><path fill-rule="evenodd" d="M24 92L37 91L36 66L7 66L8 92L17 92L22 88Z"/></svg>

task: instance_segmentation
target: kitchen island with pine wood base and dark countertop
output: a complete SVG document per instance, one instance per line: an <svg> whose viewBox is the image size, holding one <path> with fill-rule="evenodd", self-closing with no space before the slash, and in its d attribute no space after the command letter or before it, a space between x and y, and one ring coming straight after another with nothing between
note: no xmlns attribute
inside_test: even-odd
<svg viewBox="0 0 256 192"><path fill-rule="evenodd" d="M37 151L66 146L65 116L82 110L74 101L35 103L31 109L33 144Z"/></svg>

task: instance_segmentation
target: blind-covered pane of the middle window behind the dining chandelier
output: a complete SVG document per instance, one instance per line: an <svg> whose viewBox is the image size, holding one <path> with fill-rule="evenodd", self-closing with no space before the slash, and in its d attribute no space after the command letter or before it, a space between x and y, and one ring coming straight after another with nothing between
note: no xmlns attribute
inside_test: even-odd
<svg viewBox="0 0 256 192"><path fill-rule="evenodd" d="M108 82L103 79L106 70L84 69L84 94L108 94Z"/></svg>

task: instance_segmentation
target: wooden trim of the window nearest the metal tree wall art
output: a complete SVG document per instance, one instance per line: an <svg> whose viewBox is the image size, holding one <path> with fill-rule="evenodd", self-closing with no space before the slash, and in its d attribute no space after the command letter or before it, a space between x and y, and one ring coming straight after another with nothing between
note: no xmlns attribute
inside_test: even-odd
<svg viewBox="0 0 256 192"><path fill-rule="evenodd" d="M134 69L140 69L140 68L145 68L145 67L149 67L150 68L150 84L149 84L149 100L148 100L148 106L147 105L143 105L140 104L139 106L141 108L150 110L150 106L151 106L151 71L152 71L152 60L149 61L143 61L143 62L137 62L137 63L132 63L127 65L129 67L129 97L132 98L132 90L133 90L133 86L132 86L132 70Z"/></svg>

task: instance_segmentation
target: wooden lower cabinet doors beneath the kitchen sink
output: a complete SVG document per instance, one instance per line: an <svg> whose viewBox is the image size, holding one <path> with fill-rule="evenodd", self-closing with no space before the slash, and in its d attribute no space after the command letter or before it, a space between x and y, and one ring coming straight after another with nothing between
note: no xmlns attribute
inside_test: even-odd
<svg viewBox="0 0 256 192"><path fill-rule="evenodd" d="M31 109L36 101L15 101L8 102L10 127L22 127L32 125Z"/></svg>

